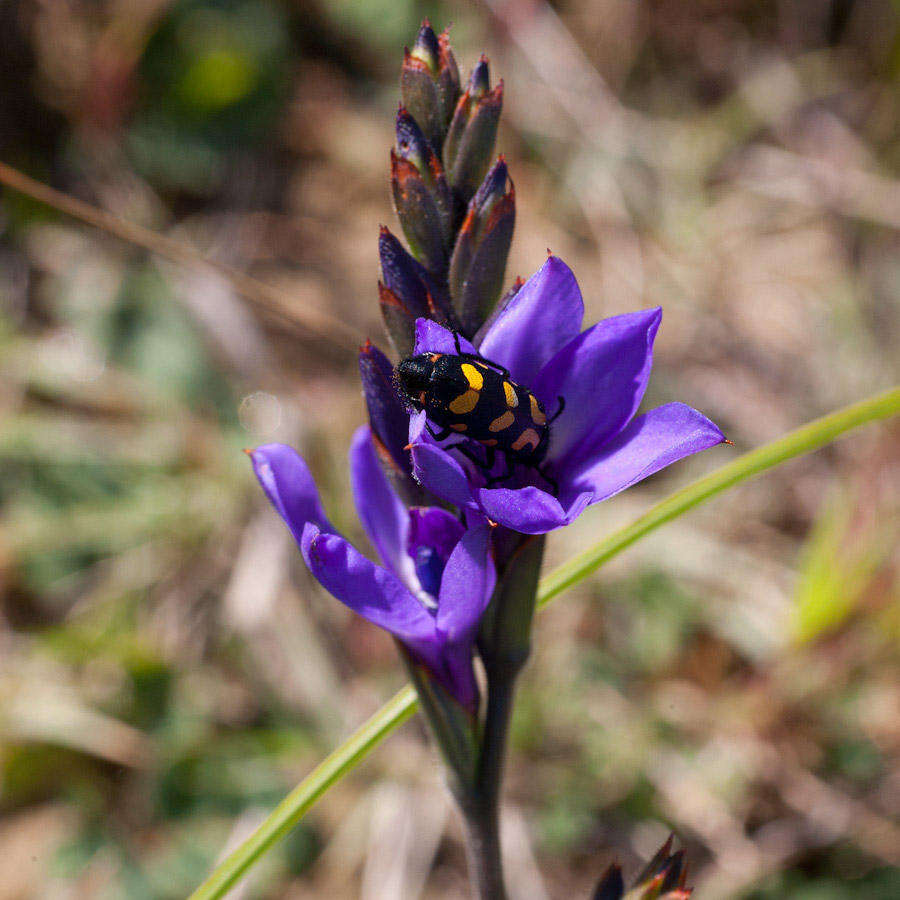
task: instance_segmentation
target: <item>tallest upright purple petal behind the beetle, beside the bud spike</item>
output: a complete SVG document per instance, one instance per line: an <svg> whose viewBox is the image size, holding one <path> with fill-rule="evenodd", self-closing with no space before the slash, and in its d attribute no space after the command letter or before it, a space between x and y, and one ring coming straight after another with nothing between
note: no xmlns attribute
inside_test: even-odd
<svg viewBox="0 0 900 900"><path fill-rule="evenodd" d="M497 316L480 352L531 387L544 364L578 336L584 303L572 270L551 256Z"/></svg>

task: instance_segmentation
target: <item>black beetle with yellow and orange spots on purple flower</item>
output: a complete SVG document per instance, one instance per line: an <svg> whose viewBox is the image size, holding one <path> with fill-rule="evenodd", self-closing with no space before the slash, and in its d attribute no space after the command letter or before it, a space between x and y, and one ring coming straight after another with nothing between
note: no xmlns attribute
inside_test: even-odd
<svg viewBox="0 0 900 900"><path fill-rule="evenodd" d="M524 385L510 378L509 370L473 353L463 353L459 335L454 332L456 355L419 353L402 360L397 367L400 393L417 410L440 426L435 440L458 435L476 441L485 448L479 458L465 443L453 445L488 474L491 486L512 474L516 463L530 466L557 493L555 479L540 468L550 446L550 426L565 407L548 418L544 405ZM491 476L497 454L506 460L507 471Z"/></svg>

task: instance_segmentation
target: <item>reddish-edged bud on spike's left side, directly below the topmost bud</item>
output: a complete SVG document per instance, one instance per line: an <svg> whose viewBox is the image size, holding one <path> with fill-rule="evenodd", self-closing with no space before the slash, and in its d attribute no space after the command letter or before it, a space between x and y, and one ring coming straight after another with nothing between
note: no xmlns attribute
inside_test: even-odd
<svg viewBox="0 0 900 900"><path fill-rule="evenodd" d="M397 113L397 147L391 151L391 188L413 255L442 277L452 237L453 198L437 154L402 107Z"/></svg>

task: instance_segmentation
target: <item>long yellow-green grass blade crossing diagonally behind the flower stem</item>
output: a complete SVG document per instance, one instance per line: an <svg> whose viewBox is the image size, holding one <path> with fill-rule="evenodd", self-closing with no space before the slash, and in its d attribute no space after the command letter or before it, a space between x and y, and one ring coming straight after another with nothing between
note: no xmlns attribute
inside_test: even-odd
<svg viewBox="0 0 900 900"><path fill-rule="evenodd" d="M868 422L887 419L900 412L900 387L844 407L777 441L751 450L721 469L695 481L658 503L630 525L604 538L551 572L538 588L538 603L545 606L566 588L577 584L645 534L693 509L728 488L747 481L789 459L831 443L842 434ZM293 828L312 805L370 750L416 711L418 702L411 687L388 701L358 731L317 766L259 828L228 856L191 895L190 900L222 897L273 844Z"/></svg>

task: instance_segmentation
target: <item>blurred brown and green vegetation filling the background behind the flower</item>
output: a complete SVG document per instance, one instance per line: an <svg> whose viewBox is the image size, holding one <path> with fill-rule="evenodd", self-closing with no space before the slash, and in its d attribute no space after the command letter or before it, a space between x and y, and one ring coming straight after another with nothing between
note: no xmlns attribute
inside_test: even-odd
<svg viewBox="0 0 900 900"><path fill-rule="evenodd" d="M687 400L741 450L897 378L896 0L0 4L0 159L289 313L0 199L0 898L185 896L401 683L240 450L298 446L363 540L355 348L303 326L384 343L376 241L425 14L506 81L509 278L549 246L587 321L664 307L648 404ZM743 486L542 615L516 897L586 897L670 829L703 900L900 896L898 438ZM595 507L549 563L734 452ZM235 896L467 896L421 726Z"/></svg>

